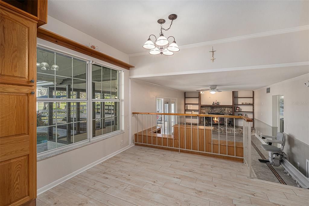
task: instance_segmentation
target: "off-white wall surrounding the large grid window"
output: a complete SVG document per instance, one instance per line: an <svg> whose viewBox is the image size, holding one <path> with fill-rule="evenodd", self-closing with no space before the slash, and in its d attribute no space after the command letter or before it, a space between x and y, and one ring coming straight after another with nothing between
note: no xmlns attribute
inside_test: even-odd
<svg viewBox="0 0 309 206"><path fill-rule="evenodd" d="M99 42L98 40L93 39L92 37L86 35L83 32L80 32L67 24L63 24L62 22L49 17L48 24L44 25L44 28L70 38L74 41L78 41L79 43L87 43L91 41L91 43L99 45L102 52L105 54L111 55L115 58L121 59L123 61L128 62L128 57L104 44L103 42ZM83 42L85 41L85 42ZM87 58L90 60L94 60L97 63L106 65L108 67L121 69L120 67L114 66L107 62L103 62L99 59L95 59L92 57L88 57L87 55L80 54L73 50L67 49L65 47L55 45L51 42L44 41L42 39L37 39L38 44L45 45L51 47L53 49L61 50L63 52L67 52L69 54L77 55L82 58ZM54 157L50 157L48 159L44 159L37 162L37 188L40 189L48 184L57 181L60 178L65 177L78 169L81 169L107 155L120 150L129 145L129 131L127 130L127 125L129 125L129 71L123 69L124 73L122 73L122 83L121 83L121 118L122 118L122 131L123 134L111 137L109 139L105 139L99 142L95 142L93 144L89 144L87 146L71 150L69 152L65 152L59 154ZM88 131L91 132L91 131ZM120 146L120 141L123 140L123 146Z"/></svg>

